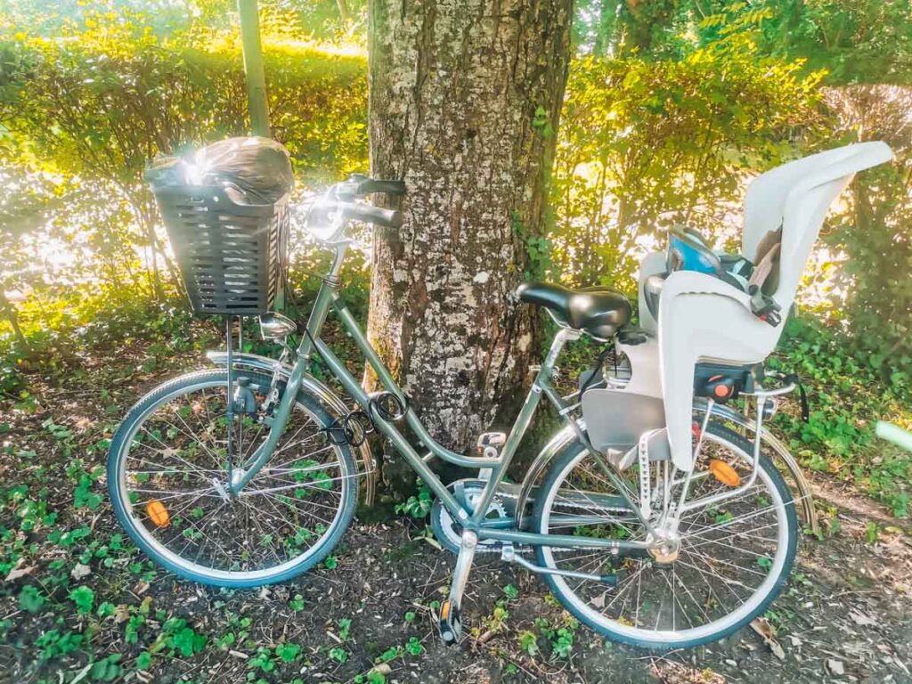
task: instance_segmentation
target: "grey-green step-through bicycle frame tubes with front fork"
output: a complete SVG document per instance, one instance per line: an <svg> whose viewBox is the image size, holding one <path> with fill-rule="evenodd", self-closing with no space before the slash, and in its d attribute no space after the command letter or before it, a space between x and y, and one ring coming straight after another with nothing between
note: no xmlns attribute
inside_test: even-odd
<svg viewBox="0 0 912 684"><path fill-rule="evenodd" d="M503 450L497 458L468 457L456 453L455 451L450 451L430 436L421 423L418 415L409 407L405 393L399 388L396 380L389 372L389 368L384 365L378 357L377 352L370 346L367 337L365 337L364 333L361 331L355 317L352 316L345 301L338 293L338 275L345 258L348 244L348 241L335 244L336 254L332 267L329 274L323 278L323 283L320 285L316 294L314 306L311 310L310 317L307 320L306 333L294 352L295 362L285 386L285 393L276 406L273 417L266 419L270 427L269 436L254 454L251 455L247 463L244 464L244 469L238 473L237 477L234 476L233 472L229 473L229 487L231 492L235 495L240 493L244 487L253 480L256 473L264 467L267 461L269 461L269 458L275 450L276 444L285 430L285 423L291 413L298 389L300 389L301 382L306 375L307 368L309 368L311 358L316 352L316 354L323 359L326 367L329 368L332 375L337 378L348 395L355 399L362 410L368 413L377 430L382 432L393 443L399 453L408 461L411 468L418 474L420 479L425 482L428 487L430 487L430 490L440 499L440 503L443 504L446 510L451 513L454 519L460 522L464 529L475 532L480 539L492 539L515 544L547 544L555 547L605 548L614 550L615 552L648 549L650 544L645 542L629 542L624 540L601 539L597 537L574 536L570 534L537 534L523 532L517 529L509 529L508 525L511 523L509 519L506 519L505 521L491 521L486 520L485 518L488 507L497 492L498 485L502 481L503 475L507 472L507 468L513 460L513 455L518 450L525 431L532 421L535 409L538 408L538 404L544 394L558 409L561 419L573 426L576 431L577 439L580 440L596 457L596 462L598 462L600 469L605 472L606 476L615 484L617 490L621 492L624 499L627 501L630 512L637 516L637 520L642 523L649 532L652 531L652 526L648 523L640 512L637 504L632 501L628 494L627 485L617 477L614 470L606 461L604 461L602 455L598 451L592 449L586 439L586 434L579 428L575 420L568 419L568 414L574 407L565 405L564 400L551 383L554 363L560 355L565 343L568 340L579 337L580 333L566 327L561 328L557 332L551 348L544 358L544 363L541 368L539 368L534 379L532 389L530 389L529 394L523 401L523 407L520 409L519 416L513 423L513 428L503 445ZM409 443L409 440L407 440L399 431L395 422L384 420L377 415L376 411L371 411L370 395L364 391L361 384L358 382L358 379L348 371L345 364L333 354L332 350L320 338L320 332L326 322L326 316L328 316L330 309L335 311L342 326L345 327L348 334L355 341L355 344L364 355L370 368L373 368L374 372L377 374L377 378L383 388L392 393L399 399L401 405L406 407L405 415L402 416L402 419L406 420L409 428L414 431L418 440L428 448L429 453L426 457L422 458L419 453L415 451ZM440 458L443 461L449 461L454 465L464 468L491 471L491 476L473 509L460 503L447 486L440 480L437 474L430 469L428 461L433 457ZM507 523L507 525L504 523Z"/></svg>

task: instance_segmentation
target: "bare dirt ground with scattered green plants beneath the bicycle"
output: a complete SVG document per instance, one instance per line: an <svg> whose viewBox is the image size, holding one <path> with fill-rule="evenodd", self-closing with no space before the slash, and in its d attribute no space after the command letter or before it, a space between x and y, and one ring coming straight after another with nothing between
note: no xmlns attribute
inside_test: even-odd
<svg viewBox="0 0 912 684"><path fill-rule="evenodd" d="M803 535L767 614L772 641L744 628L661 656L623 647L578 626L534 575L482 556L468 634L444 647L432 608L453 558L405 518L362 515L331 569L286 585L177 581L119 538L98 469L130 404L174 375L147 357L125 347L0 399L0 681L912 682L908 523L819 474L827 532Z"/></svg>

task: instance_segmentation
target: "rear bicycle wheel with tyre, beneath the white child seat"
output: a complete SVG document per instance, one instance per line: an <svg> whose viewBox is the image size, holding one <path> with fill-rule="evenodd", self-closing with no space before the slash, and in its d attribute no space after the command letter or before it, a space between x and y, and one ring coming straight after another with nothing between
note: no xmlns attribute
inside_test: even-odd
<svg viewBox="0 0 912 684"><path fill-rule="evenodd" d="M710 472L724 461L747 482L751 444L718 425L704 436L688 500L727 489ZM609 466L610 467L610 466ZM664 466L651 466L660 482ZM670 470L670 469L669 469ZM622 473L638 492L638 466ZM555 459L536 497L534 529L645 540L629 504L581 445ZM669 500L678 501L672 488ZM662 506L653 489L653 511ZM639 502L634 498L634 503ZM580 621L611 639L654 650L690 648L726 637L762 614L791 572L798 523L791 492L765 456L750 489L680 516L677 557L658 562L649 554L612 555L592 548L538 546L539 565L590 575L615 575L617 584L544 575L554 595Z"/></svg>

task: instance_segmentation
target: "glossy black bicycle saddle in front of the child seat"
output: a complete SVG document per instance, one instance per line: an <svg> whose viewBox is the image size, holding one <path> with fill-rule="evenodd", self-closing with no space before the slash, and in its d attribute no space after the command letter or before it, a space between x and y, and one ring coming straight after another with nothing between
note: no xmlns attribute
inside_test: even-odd
<svg viewBox="0 0 912 684"><path fill-rule="evenodd" d="M516 295L523 302L544 306L560 323L599 339L612 337L630 320L627 297L607 287L571 290L549 283L523 283Z"/></svg>

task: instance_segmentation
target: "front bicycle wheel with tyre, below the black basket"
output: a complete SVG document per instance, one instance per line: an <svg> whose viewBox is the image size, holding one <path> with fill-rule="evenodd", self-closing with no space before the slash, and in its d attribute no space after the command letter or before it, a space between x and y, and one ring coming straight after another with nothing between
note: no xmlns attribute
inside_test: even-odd
<svg viewBox="0 0 912 684"><path fill-rule="evenodd" d="M258 402L271 376L250 379ZM150 558L212 586L283 582L324 559L351 522L358 472L332 417L302 389L275 451L237 496L229 471L268 436L256 416L225 416L227 373L205 370L153 389L111 442L108 489L119 522ZM232 434L232 463L227 437Z"/></svg>

